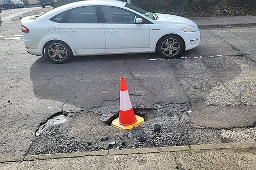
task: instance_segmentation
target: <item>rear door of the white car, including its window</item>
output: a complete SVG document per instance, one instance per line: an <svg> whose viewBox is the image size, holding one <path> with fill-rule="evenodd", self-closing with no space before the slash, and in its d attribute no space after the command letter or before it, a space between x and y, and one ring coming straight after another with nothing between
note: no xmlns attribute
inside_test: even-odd
<svg viewBox="0 0 256 170"><path fill-rule="evenodd" d="M63 39L68 41L77 55L105 53L105 35L97 7L71 9L59 26Z"/></svg>

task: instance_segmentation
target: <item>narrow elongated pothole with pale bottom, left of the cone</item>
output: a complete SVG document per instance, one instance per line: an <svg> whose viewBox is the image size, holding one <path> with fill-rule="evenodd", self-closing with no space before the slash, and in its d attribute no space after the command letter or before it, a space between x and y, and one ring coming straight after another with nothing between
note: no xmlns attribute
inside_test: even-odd
<svg viewBox="0 0 256 170"><path fill-rule="evenodd" d="M56 113L52 115L46 120L46 122L41 123L39 125L39 128L35 132L35 136L38 136L41 132L44 132L47 128L51 126L55 126L55 125L66 122L66 120L67 120L67 116L64 115L63 113Z"/></svg>

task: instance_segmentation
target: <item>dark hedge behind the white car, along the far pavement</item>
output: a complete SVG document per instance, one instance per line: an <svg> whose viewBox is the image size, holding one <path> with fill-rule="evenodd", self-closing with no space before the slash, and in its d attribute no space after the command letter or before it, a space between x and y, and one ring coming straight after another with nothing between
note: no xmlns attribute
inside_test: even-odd
<svg viewBox="0 0 256 170"><path fill-rule="evenodd" d="M57 6L76 1L58 0ZM181 16L256 15L256 0L131 0L131 2L147 11Z"/></svg>

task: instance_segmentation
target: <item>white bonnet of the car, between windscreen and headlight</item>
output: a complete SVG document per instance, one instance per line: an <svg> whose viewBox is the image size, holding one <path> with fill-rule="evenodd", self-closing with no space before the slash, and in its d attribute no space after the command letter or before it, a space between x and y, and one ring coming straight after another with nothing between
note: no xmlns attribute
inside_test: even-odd
<svg viewBox="0 0 256 170"><path fill-rule="evenodd" d="M197 24L194 21L191 21L190 19L177 16L177 15L169 15L169 14L158 14L159 17L156 21L159 24L178 24L178 25L190 25L197 27Z"/></svg>

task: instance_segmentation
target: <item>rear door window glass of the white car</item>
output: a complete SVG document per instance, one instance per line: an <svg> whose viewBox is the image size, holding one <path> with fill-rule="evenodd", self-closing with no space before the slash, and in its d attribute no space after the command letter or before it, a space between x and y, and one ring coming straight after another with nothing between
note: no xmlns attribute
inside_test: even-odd
<svg viewBox="0 0 256 170"><path fill-rule="evenodd" d="M64 22L69 23L97 23L95 7L80 7L72 9Z"/></svg>

